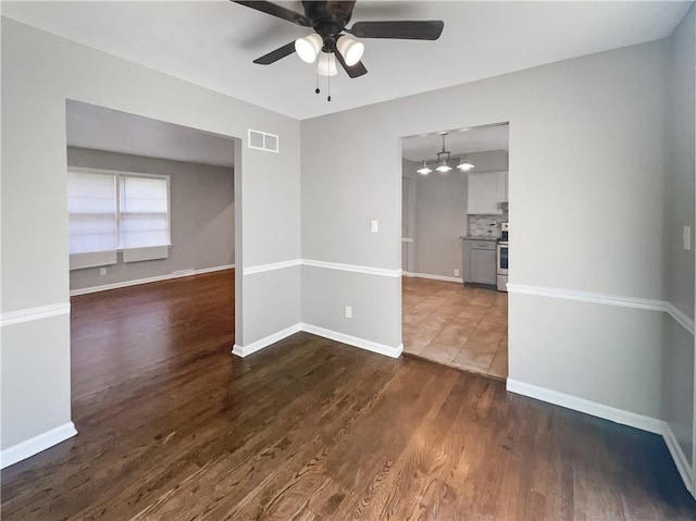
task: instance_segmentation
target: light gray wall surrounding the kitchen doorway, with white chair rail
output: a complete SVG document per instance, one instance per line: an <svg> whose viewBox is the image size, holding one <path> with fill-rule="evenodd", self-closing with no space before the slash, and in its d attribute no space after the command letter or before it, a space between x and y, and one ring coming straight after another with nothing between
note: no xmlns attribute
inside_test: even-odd
<svg viewBox="0 0 696 521"><path fill-rule="evenodd" d="M627 47L303 121L303 257L398 269L399 137L510 122L510 282L661 299L668 48ZM331 146L335 128L340 149ZM380 234L370 234L371 219L381 220ZM353 295L370 296L383 312L358 318L353 307L351 331L377 342L370 335L382 324L391 333L378 342L398 346L400 284L384 286L355 274L326 296L308 277L302 315L323 308L326 323L344 327L332 313ZM604 321L607 309L511 295L510 379L660 418L661 321L629 308L611 308L618 322ZM591 335L588 324L601 328ZM642 334L617 346L634 326Z"/></svg>

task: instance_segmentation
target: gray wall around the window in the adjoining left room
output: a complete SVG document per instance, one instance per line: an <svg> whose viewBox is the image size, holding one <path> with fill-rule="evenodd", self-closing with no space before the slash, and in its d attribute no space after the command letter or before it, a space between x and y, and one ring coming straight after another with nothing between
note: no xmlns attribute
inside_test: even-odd
<svg viewBox="0 0 696 521"><path fill-rule="evenodd" d="M234 147L232 139L229 147ZM234 264L232 169L73 147L67 148L67 164L169 175L172 226L166 259L124 263L119 253L119 263L107 266L107 275L99 275L99 268L71 271L71 289Z"/></svg>

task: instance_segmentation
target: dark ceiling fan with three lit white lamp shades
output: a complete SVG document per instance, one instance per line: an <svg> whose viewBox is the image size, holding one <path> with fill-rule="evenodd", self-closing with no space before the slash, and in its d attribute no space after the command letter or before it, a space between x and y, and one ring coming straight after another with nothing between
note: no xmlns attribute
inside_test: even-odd
<svg viewBox="0 0 696 521"><path fill-rule="evenodd" d="M336 74L334 58L351 78L368 73L360 61L364 46L353 37L436 40L445 26L440 20L427 20L357 22L348 28L346 26L350 22L356 0L302 1L304 13L298 13L273 2L233 1L314 29L313 34L279 47L256 59L253 63L270 65L297 52L300 59L308 63L313 63L319 58L316 73L322 76ZM319 94L319 88L316 92Z"/></svg>

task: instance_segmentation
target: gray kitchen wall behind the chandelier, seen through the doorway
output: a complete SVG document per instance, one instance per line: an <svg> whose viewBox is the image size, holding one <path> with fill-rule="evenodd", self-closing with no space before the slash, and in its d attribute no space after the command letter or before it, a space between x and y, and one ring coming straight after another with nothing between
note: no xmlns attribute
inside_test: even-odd
<svg viewBox="0 0 696 521"><path fill-rule="evenodd" d="M490 150L469 153L475 172L508 170L508 152ZM403 177L412 177L422 163L402 160ZM415 234L412 246L415 273L453 277L462 269L461 237L467 235L467 174L452 170L444 175L415 174ZM418 240L415 240L418 237Z"/></svg>

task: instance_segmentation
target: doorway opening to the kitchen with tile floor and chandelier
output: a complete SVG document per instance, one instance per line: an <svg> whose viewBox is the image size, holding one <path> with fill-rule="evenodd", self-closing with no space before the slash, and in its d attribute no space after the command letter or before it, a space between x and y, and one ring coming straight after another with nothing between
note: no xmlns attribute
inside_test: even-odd
<svg viewBox="0 0 696 521"><path fill-rule="evenodd" d="M403 352L504 380L508 142L508 124L402 139Z"/></svg>

